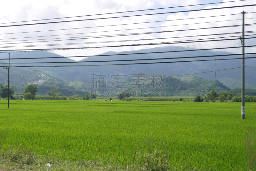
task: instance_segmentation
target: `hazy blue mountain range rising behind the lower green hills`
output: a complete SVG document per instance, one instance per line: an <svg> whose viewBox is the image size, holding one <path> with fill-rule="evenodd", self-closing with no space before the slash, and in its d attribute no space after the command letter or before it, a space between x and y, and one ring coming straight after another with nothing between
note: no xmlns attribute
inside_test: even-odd
<svg viewBox="0 0 256 171"><path fill-rule="evenodd" d="M210 48L210 47L209 47ZM191 48L187 48L189 50ZM155 52L155 51L182 51L181 47L169 46L169 47L157 47L139 51L124 51L124 52L106 52L103 55L111 54L124 54L124 53L142 53L142 52ZM219 55L219 54L231 54L223 51L189 51L189 52L169 52L169 53L157 53L157 54L143 54L143 55L120 55L120 56L93 56L83 59L81 61L90 60L123 60L123 59L153 59L153 58L174 58L174 57L193 57L193 56L208 56L208 55ZM253 55L246 55L246 57L252 57ZM40 58L40 57L60 57L60 55L47 52L47 51L32 51L32 52L16 52L11 53L11 58ZM8 53L1 53L1 58L8 58ZM164 60L147 60L147 61L131 61L131 62L90 62L90 63L68 63L68 64L22 64L22 65L98 65L98 64L120 64L120 63L142 63L142 62L164 62L164 61L186 61L186 60L202 60L202 59L221 59L221 58L241 58L241 56L223 56L223 57L207 57L207 58L187 58L187 59L164 59ZM11 60L11 62L75 62L69 58L47 58L47 59L22 59L22 60ZM6 66L2 62L8 62L7 60L1 60L0 66ZM216 63L216 66L215 66ZM21 64L13 64L21 65ZM245 66L256 66L255 59L245 59ZM119 66L68 66L68 67L12 67L10 70L11 84L18 85L18 92L21 92L28 83L33 83L39 80L41 82L60 82L59 84L49 84L48 86L62 86L64 87L65 82L91 82L91 74L106 74L104 77L106 81L113 81L110 78L111 74L125 74L126 79L131 77L131 74L137 73L150 73L150 74L165 74L166 76L171 75L183 75L193 74L200 72L208 72L221 69L241 67L241 59L236 60L219 60L219 61L200 61L200 62L181 62L181 63L165 63L165 64L142 64L142 65L119 65ZM246 88L256 87L256 75L255 68L245 68L245 81ZM239 80L241 80L241 68L217 71L216 78L215 72L196 74L206 80L219 80L229 88L241 87ZM0 70L0 81L7 79L7 71L4 69ZM180 78L185 77L179 76ZM20 81L27 82L20 82ZM176 79L177 80L177 79ZM182 81L182 80L181 80ZM6 82L2 82L6 84ZM89 83L84 85L85 87L90 86ZM191 87L191 86L190 86ZM178 87L177 87L178 88ZM46 92L45 92L46 93Z"/></svg>

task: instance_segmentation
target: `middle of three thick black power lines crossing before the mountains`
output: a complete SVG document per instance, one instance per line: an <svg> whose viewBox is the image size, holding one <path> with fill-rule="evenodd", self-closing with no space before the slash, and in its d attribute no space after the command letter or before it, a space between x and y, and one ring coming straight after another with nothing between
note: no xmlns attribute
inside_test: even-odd
<svg viewBox="0 0 256 171"><path fill-rule="evenodd" d="M256 53L244 53L245 55L252 55ZM72 61L72 62L10 62L10 64L59 64L59 63L87 63L87 62L124 62L124 61L142 61L142 60L165 60L165 59L185 59L185 58L205 58L205 57L221 57L221 56L235 56L243 55L239 54L227 54L227 55L208 55L208 56L193 56L193 57L175 57L175 58L147 58L147 59L125 59L125 60L102 60L102 61ZM1 64L9 64L9 62L3 62Z"/></svg>

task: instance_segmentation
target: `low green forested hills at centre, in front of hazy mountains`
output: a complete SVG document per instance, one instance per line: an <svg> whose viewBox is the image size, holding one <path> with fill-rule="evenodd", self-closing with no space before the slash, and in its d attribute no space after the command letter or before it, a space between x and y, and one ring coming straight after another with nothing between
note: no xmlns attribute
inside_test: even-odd
<svg viewBox="0 0 256 171"><path fill-rule="evenodd" d="M126 80L119 80L117 82L100 82L95 86L91 84L81 84L81 82L72 82L68 86L79 88L84 91L94 92L96 95L107 96L107 94L118 94L120 92L132 92L136 96L196 96L204 95L210 92L212 88L217 92L226 92L230 90L227 86L218 80L209 81L196 75L179 78L176 76L169 76L163 78L161 74L139 73L140 77L133 80L134 77L127 78ZM119 77L121 78L121 77ZM156 79L154 79L156 78ZM101 86L102 85L102 86ZM98 86L98 87L97 87ZM115 87L116 86L116 87Z"/></svg>

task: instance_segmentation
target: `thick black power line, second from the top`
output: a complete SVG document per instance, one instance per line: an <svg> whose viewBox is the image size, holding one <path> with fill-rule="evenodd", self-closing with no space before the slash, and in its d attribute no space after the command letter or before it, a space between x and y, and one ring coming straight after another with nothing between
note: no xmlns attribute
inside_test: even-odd
<svg viewBox="0 0 256 171"><path fill-rule="evenodd" d="M96 19L79 19L79 20L70 20L70 21L55 21L55 22L32 23L32 24L18 24L18 25L8 25L8 26L0 26L0 27L14 27L14 26L17 27L17 26L28 26L28 25L38 25L38 24L52 24L52 23L74 22L74 21L88 21L88 20L98 20L98 19L114 19L114 18L124 18L124 17L138 17L138 16L146 16L146 15L170 14L170 13L178 13L178 12L194 12L194 11L205 11L205 10L218 10L218 9L238 8L238 7L247 7L247 6L256 6L256 4L229 6L229 7L220 7L220 8L210 8L210 9L199 9L199 10L176 11L176 12L161 12L161 13L153 13L153 14L140 14L140 15L118 16L118 17L105 17L105 18L96 18Z"/></svg>

